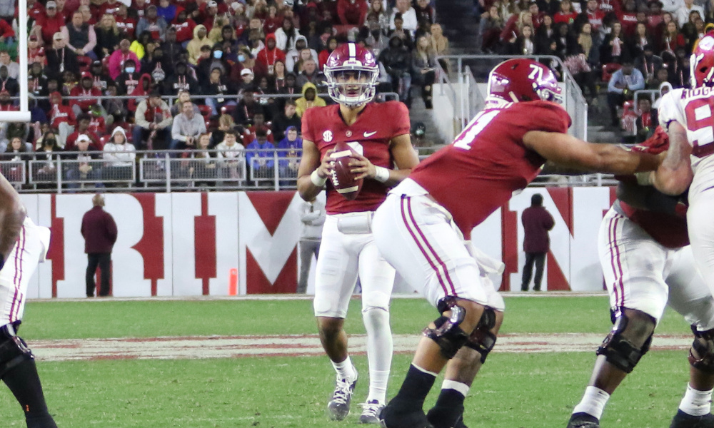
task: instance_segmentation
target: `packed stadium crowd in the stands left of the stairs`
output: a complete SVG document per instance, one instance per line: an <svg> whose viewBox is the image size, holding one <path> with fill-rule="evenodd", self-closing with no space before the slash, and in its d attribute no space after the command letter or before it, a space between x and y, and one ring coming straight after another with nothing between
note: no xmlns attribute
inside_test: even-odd
<svg viewBox="0 0 714 428"><path fill-rule="evenodd" d="M296 173L301 116L332 102L322 70L338 43L367 46L379 90L407 104L421 91L426 108L435 57L448 51L428 0L29 0L28 9L32 119L0 127L0 153L48 161L34 176L54 174L57 156L79 160L84 170L66 180L99 182L82 160L126 170L144 149L249 158L263 153L243 149L283 148L293 159L281 168ZM24 84L16 16L14 1L0 1L0 111L17 109L11 97Z"/></svg>

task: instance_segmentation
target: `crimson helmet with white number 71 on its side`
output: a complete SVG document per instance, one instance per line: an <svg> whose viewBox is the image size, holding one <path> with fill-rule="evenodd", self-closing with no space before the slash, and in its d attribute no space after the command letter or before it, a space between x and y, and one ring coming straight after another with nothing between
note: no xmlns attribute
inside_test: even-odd
<svg viewBox="0 0 714 428"><path fill-rule="evenodd" d="M488 96L504 101L563 102L560 86L550 68L531 59L503 61L488 75Z"/></svg>

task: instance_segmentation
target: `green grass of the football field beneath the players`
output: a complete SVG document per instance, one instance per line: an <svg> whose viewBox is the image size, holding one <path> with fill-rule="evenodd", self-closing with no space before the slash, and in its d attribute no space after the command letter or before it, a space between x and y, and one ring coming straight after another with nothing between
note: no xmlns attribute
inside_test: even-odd
<svg viewBox="0 0 714 428"><path fill-rule="evenodd" d="M610 329L606 297L506 297L501 332L536 337ZM353 300L348 333L362 335L360 302ZM418 299L392 306L395 335L418 335L436 311ZM23 336L30 347L46 340L186 336L313 335L309 300L156 300L29 302ZM688 335L667 312L658 333ZM131 343L131 341L126 341ZM210 347L211 342L206 343ZM257 346L257 345L256 345ZM466 424L476 427L565 427L590 377L591 352L498 352L489 356L466 399ZM206 352L208 352L208 348ZM201 350L199 350L199 353ZM354 402L367 392L367 362ZM398 389L411 355L395 355L388 397ZM39 361L51 413L60 428L316 427L358 423L359 407L343 422L326 418L334 372L315 356L212 359L99 359ZM653 350L610 399L603 427L668 427L688 380L685 350ZM441 379L436 385L441 384ZM435 387L434 392L438 392ZM427 399L432 404L436 394ZM24 427L21 409L0 388L3 427Z"/></svg>

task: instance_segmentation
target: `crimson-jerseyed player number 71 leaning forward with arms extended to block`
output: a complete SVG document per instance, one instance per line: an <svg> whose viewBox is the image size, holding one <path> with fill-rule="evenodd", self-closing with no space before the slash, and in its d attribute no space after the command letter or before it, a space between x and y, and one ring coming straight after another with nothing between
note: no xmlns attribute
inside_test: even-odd
<svg viewBox="0 0 714 428"><path fill-rule="evenodd" d="M486 108L377 210L380 252L442 315L424 330L401 389L383 409L384 427L465 427L463 399L503 318L503 300L479 280L478 257L465 243L473 227L525 188L546 160L620 174L657 168L656 156L568 136L568 113L550 102L559 100L547 67L528 59L499 64L488 78ZM444 366L441 394L425 415L424 399Z"/></svg>

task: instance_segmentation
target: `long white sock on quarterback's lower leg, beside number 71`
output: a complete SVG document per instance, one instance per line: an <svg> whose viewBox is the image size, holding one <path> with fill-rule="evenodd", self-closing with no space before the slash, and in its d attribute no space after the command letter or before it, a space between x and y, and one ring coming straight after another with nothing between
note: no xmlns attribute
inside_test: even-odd
<svg viewBox="0 0 714 428"><path fill-rule="evenodd" d="M383 404L387 397L387 381L393 350L389 312L379 307L370 307L362 312L362 321L367 330L367 360L369 361L367 401L376 399Z"/></svg>

